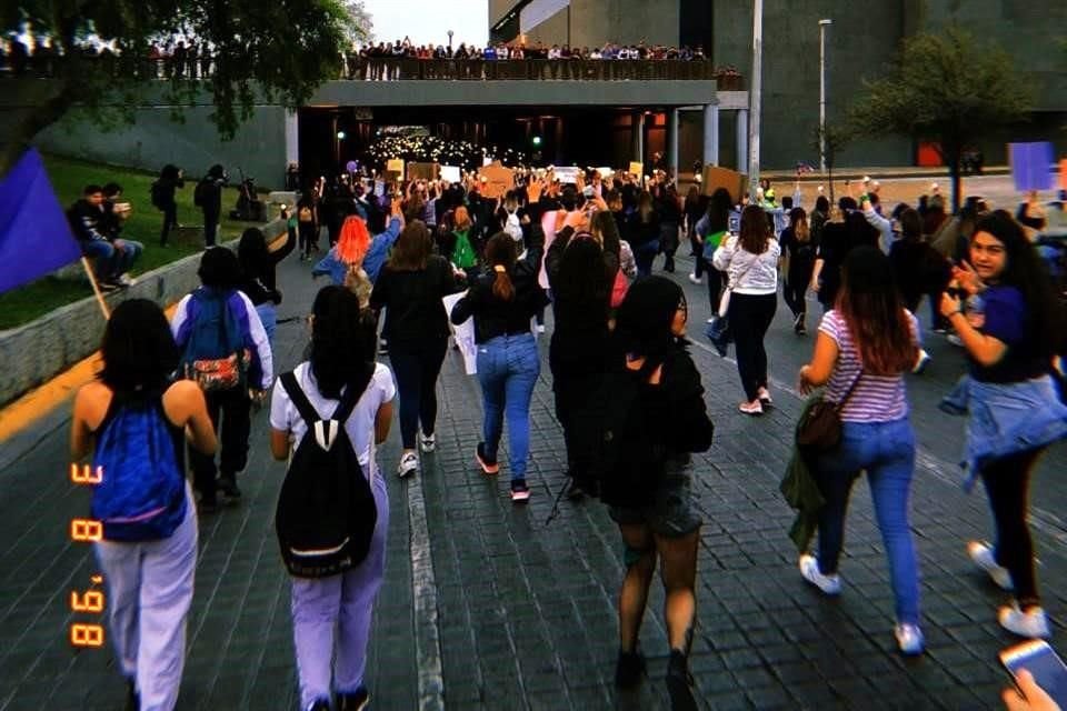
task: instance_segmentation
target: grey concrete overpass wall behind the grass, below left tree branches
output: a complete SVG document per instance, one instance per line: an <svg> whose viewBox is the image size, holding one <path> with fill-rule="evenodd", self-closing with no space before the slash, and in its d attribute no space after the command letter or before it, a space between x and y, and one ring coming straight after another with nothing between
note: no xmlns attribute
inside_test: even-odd
<svg viewBox="0 0 1067 711"><path fill-rule="evenodd" d="M208 119L211 107L185 109L185 122L171 120L169 108L144 107L137 110L132 126L104 132L74 111L42 131L33 141L46 151L158 171L174 163L186 174L198 177L215 163L230 172L230 179L245 174L263 188L285 186L286 111L281 107L257 107L248 123L232 141L219 139Z"/></svg>

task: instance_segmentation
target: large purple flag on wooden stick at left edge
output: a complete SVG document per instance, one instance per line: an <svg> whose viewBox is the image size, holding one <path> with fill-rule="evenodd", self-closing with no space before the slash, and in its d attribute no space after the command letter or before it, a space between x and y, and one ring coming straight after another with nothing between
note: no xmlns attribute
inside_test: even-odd
<svg viewBox="0 0 1067 711"><path fill-rule="evenodd" d="M31 148L0 182L0 293L81 257L44 163Z"/></svg>

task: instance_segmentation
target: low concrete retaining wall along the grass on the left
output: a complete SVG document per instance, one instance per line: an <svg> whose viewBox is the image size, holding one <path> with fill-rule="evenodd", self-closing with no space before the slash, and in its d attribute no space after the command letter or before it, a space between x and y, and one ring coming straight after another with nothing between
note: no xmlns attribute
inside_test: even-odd
<svg viewBox="0 0 1067 711"><path fill-rule="evenodd" d="M268 239L281 234L285 223L263 228ZM237 240L227 244L237 249ZM111 309L126 299L151 299L161 307L174 303L200 284L200 254L192 254L142 274L138 282L104 298ZM100 348L104 321L90 296L16 329L0 331L0 407L88 358ZM28 356L32 353L32 357Z"/></svg>

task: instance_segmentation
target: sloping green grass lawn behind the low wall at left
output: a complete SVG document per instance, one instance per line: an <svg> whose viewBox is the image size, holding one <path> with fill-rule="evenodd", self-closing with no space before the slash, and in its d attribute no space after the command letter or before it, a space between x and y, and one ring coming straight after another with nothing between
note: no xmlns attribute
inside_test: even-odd
<svg viewBox="0 0 1067 711"><path fill-rule="evenodd" d="M156 173L116 168L88 161L58 156L44 156L44 166L52 188L66 209L81 198L82 189L89 183L102 186L117 182L122 186L122 199L133 206L133 212L122 230L122 237L144 244L144 252L133 266L133 274L141 274L182 257L195 254L203 249L203 236L195 240L179 240L171 231L168 247L159 246L159 230L163 214L152 207L150 188ZM203 214L192 204L192 189L199 176L187 176L186 187L177 192L179 224L203 224ZM228 219L229 211L237 204L237 188L228 187L222 191L222 228L220 241L240 236L251 222L235 222ZM277 213L271 209L271 216ZM44 277L0 294L0 330L21 326L54 309L92 296L92 287L86 279L58 279Z"/></svg>

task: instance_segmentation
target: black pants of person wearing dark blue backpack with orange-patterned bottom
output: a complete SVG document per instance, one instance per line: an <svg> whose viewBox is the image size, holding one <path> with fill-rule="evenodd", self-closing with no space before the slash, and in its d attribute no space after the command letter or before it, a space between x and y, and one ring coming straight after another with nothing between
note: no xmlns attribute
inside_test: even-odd
<svg viewBox="0 0 1067 711"><path fill-rule="evenodd" d="M219 468L223 477L232 477L248 463L248 433L251 427L251 401L245 388L206 392L208 414L219 438ZM221 422L219 419L221 418ZM215 457L189 448L192 485L207 501L215 500Z"/></svg>

